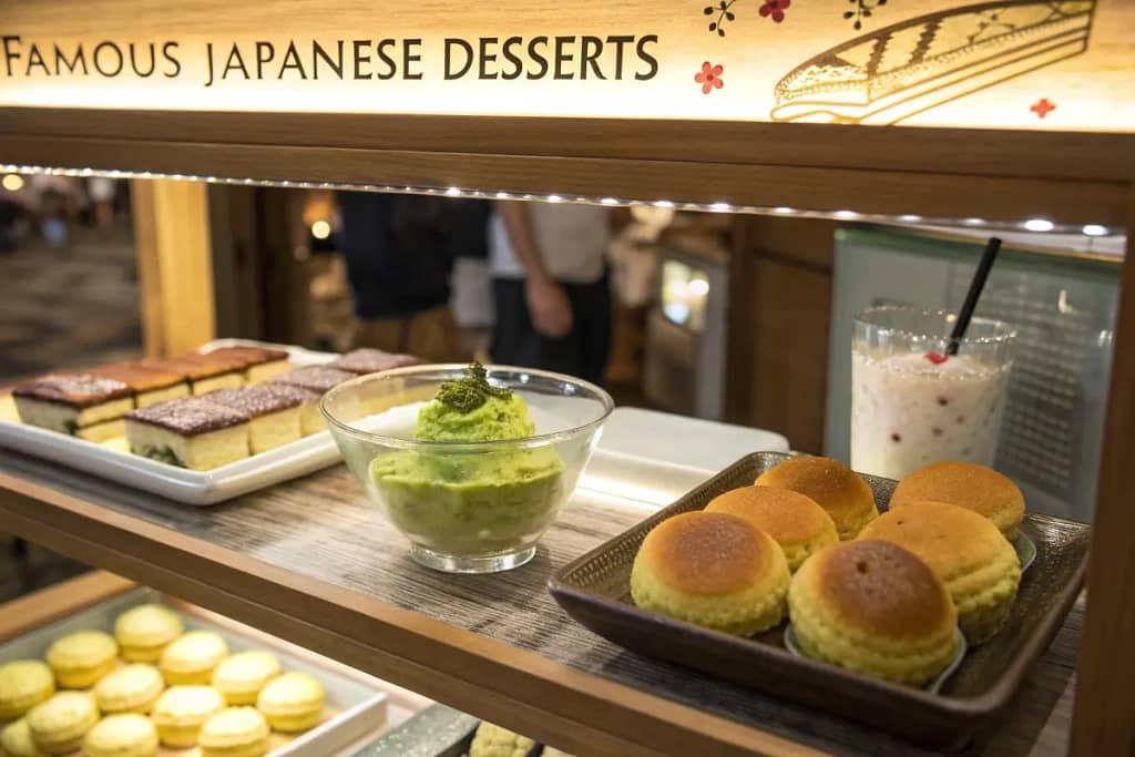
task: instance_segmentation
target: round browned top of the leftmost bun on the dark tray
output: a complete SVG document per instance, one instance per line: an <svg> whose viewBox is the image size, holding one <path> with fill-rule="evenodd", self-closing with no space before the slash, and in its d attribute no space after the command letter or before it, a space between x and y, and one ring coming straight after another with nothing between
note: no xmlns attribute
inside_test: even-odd
<svg viewBox="0 0 1135 757"><path fill-rule="evenodd" d="M639 550L659 580L697 595L748 588L773 565L779 546L748 521L725 513L682 513L656 525Z"/></svg>

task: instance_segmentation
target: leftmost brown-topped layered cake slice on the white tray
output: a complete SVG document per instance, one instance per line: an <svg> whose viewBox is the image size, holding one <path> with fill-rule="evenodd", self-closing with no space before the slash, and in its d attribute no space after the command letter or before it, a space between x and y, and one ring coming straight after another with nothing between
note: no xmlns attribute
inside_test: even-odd
<svg viewBox="0 0 1135 757"><path fill-rule="evenodd" d="M134 407L126 384L89 373L43 376L11 394L20 421L70 435L116 421Z"/></svg>

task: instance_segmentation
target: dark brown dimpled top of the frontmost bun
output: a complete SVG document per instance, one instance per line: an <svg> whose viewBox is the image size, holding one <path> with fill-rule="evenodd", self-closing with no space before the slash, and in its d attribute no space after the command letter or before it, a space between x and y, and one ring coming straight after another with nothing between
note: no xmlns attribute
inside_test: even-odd
<svg viewBox="0 0 1135 757"><path fill-rule="evenodd" d="M818 600L846 623L889 638L922 638L957 623L945 584L898 545L841 541L812 557Z"/></svg>

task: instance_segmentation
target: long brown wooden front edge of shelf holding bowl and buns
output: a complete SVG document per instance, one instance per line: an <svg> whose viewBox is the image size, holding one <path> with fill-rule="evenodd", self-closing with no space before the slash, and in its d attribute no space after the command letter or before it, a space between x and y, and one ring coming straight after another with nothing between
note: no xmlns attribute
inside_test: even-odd
<svg viewBox="0 0 1135 757"><path fill-rule="evenodd" d="M0 528L574 754L823 754L10 476Z"/></svg>

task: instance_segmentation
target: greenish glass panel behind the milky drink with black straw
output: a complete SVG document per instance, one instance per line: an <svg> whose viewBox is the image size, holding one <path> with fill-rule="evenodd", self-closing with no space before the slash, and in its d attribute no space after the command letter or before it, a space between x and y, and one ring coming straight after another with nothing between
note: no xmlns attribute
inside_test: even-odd
<svg viewBox="0 0 1135 757"><path fill-rule="evenodd" d="M1109 243L1121 251L1120 239ZM1026 244L1002 249L975 311L1017 329L994 468L1020 486L1031 511L1090 521L1121 259L1099 254L1107 245L1073 256ZM956 312L981 249L978 241L897 229L836 234L825 454L849 454L852 316L883 304Z"/></svg>

